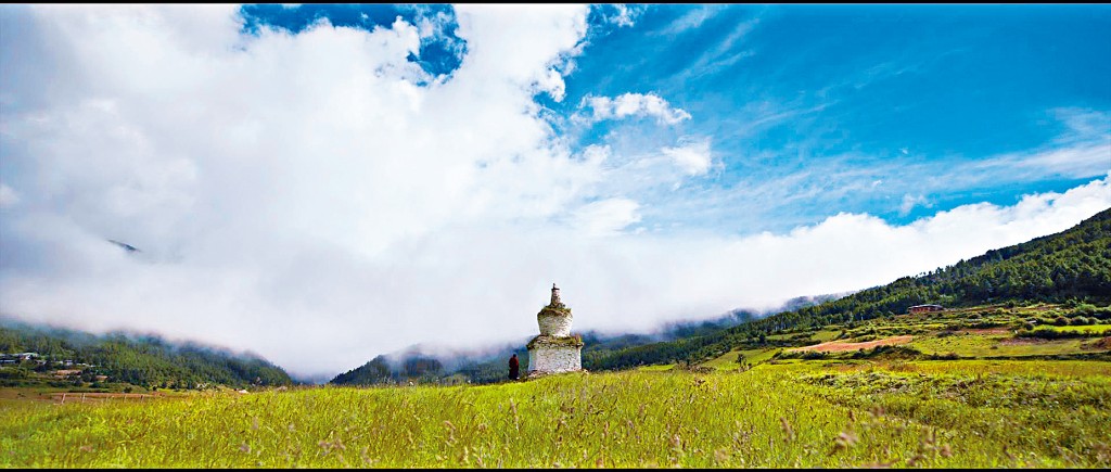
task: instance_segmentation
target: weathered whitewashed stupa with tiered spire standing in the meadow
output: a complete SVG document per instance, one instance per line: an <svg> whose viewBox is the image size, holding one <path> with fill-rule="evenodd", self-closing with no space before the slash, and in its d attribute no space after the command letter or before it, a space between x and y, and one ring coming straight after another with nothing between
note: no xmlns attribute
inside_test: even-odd
<svg viewBox="0 0 1111 472"><path fill-rule="evenodd" d="M571 334L571 309L559 299L552 283L552 300L537 313L540 335L529 341L529 376L582 370L582 338Z"/></svg>

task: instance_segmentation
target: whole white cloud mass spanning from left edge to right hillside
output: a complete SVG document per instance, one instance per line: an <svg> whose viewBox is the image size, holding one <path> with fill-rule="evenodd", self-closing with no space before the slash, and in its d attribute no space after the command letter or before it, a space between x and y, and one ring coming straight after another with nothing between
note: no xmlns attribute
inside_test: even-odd
<svg viewBox="0 0 1111 472"><path fill-rule="evenodd" d="M652 168L572 149L536 99L563 96L587 14L458 7L467 53L437 79L409 60L434 29L400 20L256 37L230 6L2 10L0 312L334 374L527 337L552 282L577 329L648 330L885 283L1111 205L1108 177L903 227L645 231L613 175ZM685 113L621 97L613 118ZM709 141L662 152L688 177L712 165Z"/></svg>

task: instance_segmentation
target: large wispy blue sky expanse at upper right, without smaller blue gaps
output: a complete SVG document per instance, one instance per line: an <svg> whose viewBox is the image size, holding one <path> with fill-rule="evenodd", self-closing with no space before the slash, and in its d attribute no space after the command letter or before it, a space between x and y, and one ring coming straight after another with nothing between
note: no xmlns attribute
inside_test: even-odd
<svg viewBox="0 0 1111 472"><path fill-rule="evenodd" d="M671 32L708 9L698 27ZM819 173L804 184L829 190L883 181L765 210L773 220L867 211L905 222L1101 175L941 183L922 192L933 208L899 213L923 174L944 179L962 162L1053 145L1069 132L1055 110L1103 113L1095 125L1105 140L1109 13L1107 6L667 6L588 47L568 80L568 102L631 88L687 110L693 118L684 131L712 137L725 167L708 187L807 168ZM753 124L761 120L769 121ZM1104 164L1111 169L1111 155ZM904 173L909 165L917 172ZM867 171L851 180L827 173L854 169Z"/></svg>

